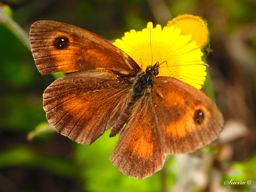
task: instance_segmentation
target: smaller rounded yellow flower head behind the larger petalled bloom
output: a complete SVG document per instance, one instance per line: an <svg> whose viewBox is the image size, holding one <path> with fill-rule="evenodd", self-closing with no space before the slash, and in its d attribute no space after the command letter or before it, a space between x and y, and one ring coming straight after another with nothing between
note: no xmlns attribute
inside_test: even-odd
<svg viewBox="0 0 256 192"><path fill-rule="evenodd" d="M192 35L192 41L196 41L198 47L203 49L209 42L209 29L206 22L198 16L180 15L168 21L167 27L174 26L181 29L182 35Z"/></svg>

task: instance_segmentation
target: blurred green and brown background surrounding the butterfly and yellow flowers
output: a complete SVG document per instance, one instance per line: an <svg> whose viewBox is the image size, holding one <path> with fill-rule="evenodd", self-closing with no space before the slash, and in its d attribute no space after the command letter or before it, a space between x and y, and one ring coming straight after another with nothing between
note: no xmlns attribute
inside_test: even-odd
<svg viewBox="0 0 256 192"><path fill-rule="evenodd" d="M1 2L1 192L256 191L255 0ZM52 130L43 110L42 94L55 78L41 76L36 69L26 43L33 22L60 21L111 41L130 29L145 28L148 21L164 27L168 20L186 13L207 20L211 33L213 52L207 58L208 69L215 101L226 122L217 140L192 154L167 156L162 171L136 180L119 172L108 160L117 140L108 138L109 131L91 146L84 146ZM18 38L15 23L25 31ZM208 84L203 88L207 90L211 90ZM250 180L251 184L224 185L232 179Z"/></svg>

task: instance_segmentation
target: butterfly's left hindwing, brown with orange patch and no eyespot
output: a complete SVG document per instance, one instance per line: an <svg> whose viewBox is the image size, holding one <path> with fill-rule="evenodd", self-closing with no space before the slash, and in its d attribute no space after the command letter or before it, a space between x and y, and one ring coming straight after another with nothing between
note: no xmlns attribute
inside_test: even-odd
<svg viewBox="0 0 256 192"><path fill-rule="evenodd" d="M55 80L44 91L44 110L58 132L90 145L113 126L132 87L109 70L85 70Z"/></svg>

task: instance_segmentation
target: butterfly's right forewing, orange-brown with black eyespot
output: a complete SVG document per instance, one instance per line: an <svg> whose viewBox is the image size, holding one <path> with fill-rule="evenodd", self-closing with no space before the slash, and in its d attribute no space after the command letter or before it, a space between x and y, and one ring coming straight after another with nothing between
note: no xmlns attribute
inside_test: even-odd
<svg viewBox="0 0 256 192"><path fill-rule="evenodd" d="M152 102L164 145L172 154L191 153L216 139L224 119L203 92L171 77L157 77Z"/></svg>

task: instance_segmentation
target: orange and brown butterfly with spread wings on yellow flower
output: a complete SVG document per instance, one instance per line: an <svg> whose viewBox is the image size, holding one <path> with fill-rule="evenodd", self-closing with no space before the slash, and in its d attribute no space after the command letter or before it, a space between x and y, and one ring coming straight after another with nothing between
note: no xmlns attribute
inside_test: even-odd
<svg viewBox="0 0 256 192"><path fill-rule="evenodd" d="M110 137L121 132L109 159L129 177L152 176L168 152L191 153L223 129L215 103L189 84L157 76L158 62L143 71L103 38L55 21L32 24L30 42L42 75L68 73L44 91L48 122L84 145L109 128Z"/></svg>

